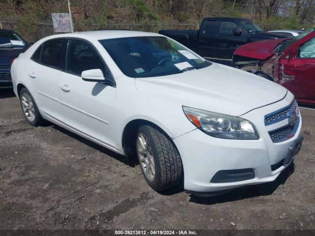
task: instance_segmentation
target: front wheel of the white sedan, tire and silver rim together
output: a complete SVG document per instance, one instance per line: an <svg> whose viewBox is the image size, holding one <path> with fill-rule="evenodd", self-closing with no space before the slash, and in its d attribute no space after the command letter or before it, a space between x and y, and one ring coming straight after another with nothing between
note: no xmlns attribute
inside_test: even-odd
<svg viewBox="0 0 315 236"><path fill-rule="evenodd" d="M136 150L142 174L151 188L162 191L181 181L183 165L178 150L156 127L142 125L139 128Z"/></svg>

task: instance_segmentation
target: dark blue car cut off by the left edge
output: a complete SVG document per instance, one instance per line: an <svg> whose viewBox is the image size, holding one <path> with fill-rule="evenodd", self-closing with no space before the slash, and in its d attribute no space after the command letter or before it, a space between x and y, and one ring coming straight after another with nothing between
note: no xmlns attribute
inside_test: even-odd
<svg viewBox="0 0 315 236"><path fill-rule="evenodd" d="M29 46L29 43L18 33L8 29L0 29L0 89L13 87L11 64Z"/></svg>

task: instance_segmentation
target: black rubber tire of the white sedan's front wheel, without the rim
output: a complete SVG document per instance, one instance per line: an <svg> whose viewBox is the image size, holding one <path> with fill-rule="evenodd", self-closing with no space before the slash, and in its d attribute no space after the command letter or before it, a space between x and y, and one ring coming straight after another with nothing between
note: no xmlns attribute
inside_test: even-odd
<svg viewBox="0 0 315 236"><path fill-rule="evenodd" d="M148 179L141 166L140 154L137 148L137 139L140 133L146 136L152 149L152 156L155 163L155 178L153 181ZM158 128L150 125L142 125L138 129L136 151L142 174L151 188L156 191L162 191L175 187L180 183L183 177L182 159L171 139Z"/></svg>

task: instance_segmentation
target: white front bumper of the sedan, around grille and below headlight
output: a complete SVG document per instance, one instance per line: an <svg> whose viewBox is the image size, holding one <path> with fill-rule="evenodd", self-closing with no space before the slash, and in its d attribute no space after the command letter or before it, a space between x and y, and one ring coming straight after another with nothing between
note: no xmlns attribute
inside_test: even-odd
<svg viewBox="0 0 315 236"><path fill-rule="evenodd" d="M273 143L268 131L285 125L287 120L265 126L264 115L287 106L293 99L288 95L282 101L255 109L241 117L256 126L259 140L230 140L209 136L199 129L173 139L182 157L184 167L184 188L188 192L211 193L265 183L275 180L291 163L284 162L290 147L296 145L302 126L299 117L297 130L293 137ZM280 163L280 164L279 164ZM278 166L277 166L278 165ZM276 169L273 168L275 167ZM219 171L252 169L254 177L243 181L211 182Z"/></svg>

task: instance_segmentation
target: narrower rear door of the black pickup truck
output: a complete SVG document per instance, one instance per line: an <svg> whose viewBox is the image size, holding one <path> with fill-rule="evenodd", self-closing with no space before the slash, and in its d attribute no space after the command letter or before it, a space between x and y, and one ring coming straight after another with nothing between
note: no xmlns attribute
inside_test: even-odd
<svg viewBox="0 0 315 236"><path fill-rule="evenodd" d="M204 58L212 58L214 54L214 43L219 27L219 20L204 20L198 35L198 54Z"/></svg>

